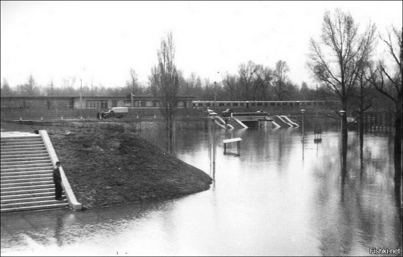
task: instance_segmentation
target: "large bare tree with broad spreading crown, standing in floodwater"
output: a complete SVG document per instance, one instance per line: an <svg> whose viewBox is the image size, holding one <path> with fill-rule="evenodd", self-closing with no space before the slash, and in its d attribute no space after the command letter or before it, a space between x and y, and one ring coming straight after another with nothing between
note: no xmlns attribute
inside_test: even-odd
<svg viewBox="0 0 403 257"><path fill-rule="evenodd" d="M359 64L371 49L375 26L369 25L363 35L358 34L358 24L350 13L335 10L323 16L320 42L310 40L308 67L314 78L323 82L337 96L346 115L342 116L343 139L347 144L348 101L358 78Z"/></svg>

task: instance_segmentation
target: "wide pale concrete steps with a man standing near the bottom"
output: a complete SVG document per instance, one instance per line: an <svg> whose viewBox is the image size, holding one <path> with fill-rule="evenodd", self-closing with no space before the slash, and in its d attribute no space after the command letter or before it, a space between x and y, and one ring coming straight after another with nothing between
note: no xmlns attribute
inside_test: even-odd
<svg viewBox="0 0 403 257"><path fill-rule="evenodd" d="M69 207L66 199L54 200L52 173L52 162L40 135L2 135L1 213Z"/></svg>

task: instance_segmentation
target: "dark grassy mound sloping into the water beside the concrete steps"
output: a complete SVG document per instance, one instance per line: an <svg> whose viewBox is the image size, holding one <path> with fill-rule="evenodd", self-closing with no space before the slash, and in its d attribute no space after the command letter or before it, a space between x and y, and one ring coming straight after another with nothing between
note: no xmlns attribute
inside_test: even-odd
<svg viewBox="0 0 403 257"><path fill-rule="evenodd" d="M33 132L27 125L15 128L2 122L2 131ZM109 127L50 129L76 198L87 208L188 195L212 183L202 170L134 133Z"/></svg>

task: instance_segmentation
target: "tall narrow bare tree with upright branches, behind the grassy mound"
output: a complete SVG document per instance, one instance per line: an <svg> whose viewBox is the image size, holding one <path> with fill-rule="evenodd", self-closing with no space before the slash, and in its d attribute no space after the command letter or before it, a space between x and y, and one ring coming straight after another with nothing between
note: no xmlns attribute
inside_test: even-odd
<svg viewBox="0 0 403 257"><path fill-rule="evenodd" d="M154 92L163 98L161 111L166 121L167 137L169 137L169 142L172 142L180 75L174 63L175 45L172 32L161 38L157 56L158 64L152 69L151 83L154 85ZM170 145L170 150L172 151L172 145Z"/></svg>

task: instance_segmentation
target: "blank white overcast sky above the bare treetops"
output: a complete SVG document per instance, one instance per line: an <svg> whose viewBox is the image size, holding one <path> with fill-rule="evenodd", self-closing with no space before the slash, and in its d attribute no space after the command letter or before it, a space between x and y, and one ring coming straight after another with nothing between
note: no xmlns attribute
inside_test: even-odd
<svg viewBox="0 0 403 257"><path fill-rule="evenodd" d="M242 62L273 68L281 59L292 81L313 86L309 39L335 8L350 11L362 29L370 21L382 33L402 27L402 1L2 1L0 76L11 86L32 74L42 85L75 76L83 85L121 87L131 67L147 82L161 37L172 31L185 77L221 81Z"/></svg>

